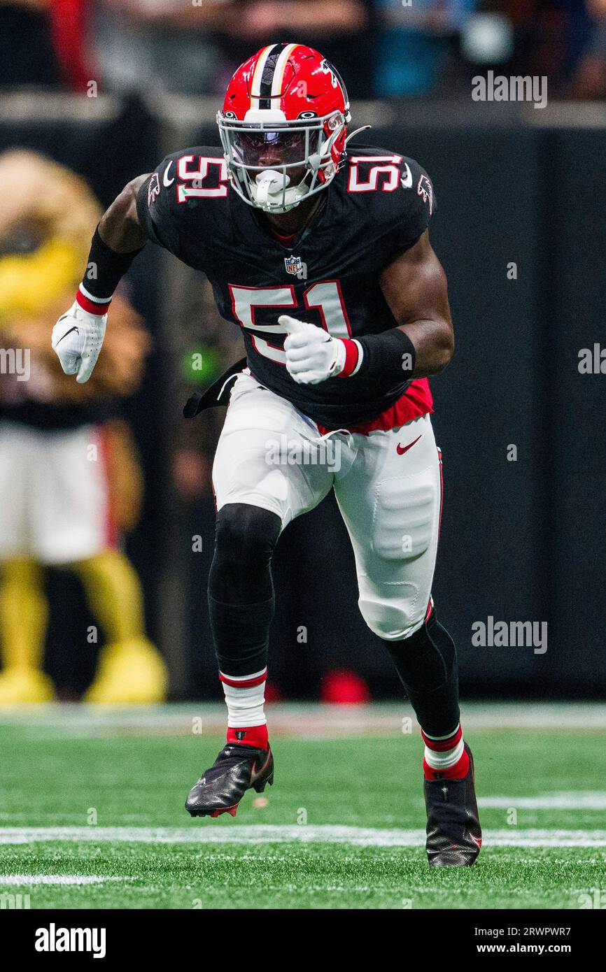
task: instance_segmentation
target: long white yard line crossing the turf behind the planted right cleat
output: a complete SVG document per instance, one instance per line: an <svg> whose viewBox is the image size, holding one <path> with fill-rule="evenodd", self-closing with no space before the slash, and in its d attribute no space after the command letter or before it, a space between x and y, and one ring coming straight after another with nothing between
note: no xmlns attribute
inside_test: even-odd
<svg viewBox="0 0 606 972"><path fill-rule="evenodd" d="M423 830L345 827L323 824L213 825L193 827L2 827L0 845L70 843L123 844L345 844L351 847L422 847ZM484 831L488 847L602 848L606 830L504 830Z"/></svg>

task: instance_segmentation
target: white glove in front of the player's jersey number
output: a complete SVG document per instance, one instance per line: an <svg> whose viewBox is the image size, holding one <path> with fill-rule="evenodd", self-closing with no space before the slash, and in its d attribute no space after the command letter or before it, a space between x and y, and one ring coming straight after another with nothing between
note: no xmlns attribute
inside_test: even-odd
<svg viewBox="0 0 606 972"><path fill-rule="evenodd" d="M278 317L278 324L288 333L284 341L286 369L300 385L317 385L342 371L345 345L339 337L288 314Z"/></svg>

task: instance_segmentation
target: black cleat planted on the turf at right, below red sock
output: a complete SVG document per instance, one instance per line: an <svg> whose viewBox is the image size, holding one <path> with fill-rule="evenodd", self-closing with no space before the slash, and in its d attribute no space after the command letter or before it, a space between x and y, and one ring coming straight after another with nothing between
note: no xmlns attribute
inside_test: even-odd
<svg viewBox="0 0 606 972"><path fill-rule="evenodd" d="M470 867L481 849L481 826L474 786L474 757L463 780L426 780L427 860L434 867Z"/></svg>

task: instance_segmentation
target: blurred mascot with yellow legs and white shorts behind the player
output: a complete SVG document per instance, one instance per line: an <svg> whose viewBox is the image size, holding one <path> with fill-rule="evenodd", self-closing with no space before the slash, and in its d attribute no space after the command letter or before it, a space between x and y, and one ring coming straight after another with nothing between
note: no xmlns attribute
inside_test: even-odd
<svg viewBox="0 0 606 972"><path fill-rule="evenodd" d="M84 180L26 150L0 155L0 185L0 705L54 697L42 671L46 565L78 573L107 637L86 699L160 702L165 665L119 546L143 476L128 426L107 417L139 385L149 337L117 295L90 381L63 374L51 330L80 282L99 206Z"/></svg>

